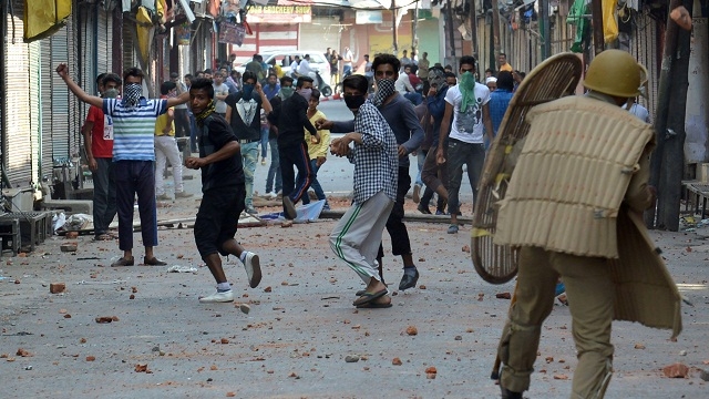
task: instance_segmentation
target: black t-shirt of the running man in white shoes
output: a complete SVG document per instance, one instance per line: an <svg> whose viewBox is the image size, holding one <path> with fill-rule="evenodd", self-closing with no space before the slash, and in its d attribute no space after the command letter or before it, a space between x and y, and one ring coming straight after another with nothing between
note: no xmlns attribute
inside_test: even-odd
<svg viewBox="0 0 709 399"><path fill-rule="evenodd" d="M197 123L199 140L199 157L214 154L229 142L236 141L232 127L226 120L213 113L205 120L205 124ZM202 192L219 187L233 187L244 184L244 168L242 154L202 167Z"/></svg>

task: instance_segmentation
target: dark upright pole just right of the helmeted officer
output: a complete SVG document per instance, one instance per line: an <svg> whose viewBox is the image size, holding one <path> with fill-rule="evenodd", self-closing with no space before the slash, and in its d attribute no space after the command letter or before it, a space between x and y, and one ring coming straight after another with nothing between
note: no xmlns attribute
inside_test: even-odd
<svg viewBox="0 0 709 399"><path fill-rule="evenodd" d="M672 0L669 10L679 6L684 6L689 14L692 14L693 0ZM655 226L672 232L679 229L681 180L685 174L685 116L689 86L690 40L691 33L680 30L668 17L655 119L657 147L651 158L649 184L658 188ZM650 211L646 213L648 226L653 226L655 216Z"/></svg>

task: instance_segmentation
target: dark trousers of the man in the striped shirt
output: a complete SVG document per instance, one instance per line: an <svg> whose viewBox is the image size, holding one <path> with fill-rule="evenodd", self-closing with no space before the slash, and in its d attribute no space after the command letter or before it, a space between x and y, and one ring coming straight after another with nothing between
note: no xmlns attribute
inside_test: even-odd
<svg viewBox="0 0 709 399"><path fill-rule="evenodd" d="M119 248L122 250L133 249L133 201L136 194L143 246L157 245L154 164L153 161L119 161L115 163Z"/></svg>

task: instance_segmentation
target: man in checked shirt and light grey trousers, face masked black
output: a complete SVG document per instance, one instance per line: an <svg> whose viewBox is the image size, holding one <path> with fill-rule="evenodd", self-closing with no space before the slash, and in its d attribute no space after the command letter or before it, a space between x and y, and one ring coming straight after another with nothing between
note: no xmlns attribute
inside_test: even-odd
<svg viewBox="0 0 709 399"><path fill-rule="evenodd" d="M352 305L387 308L391 297L377 273L377 252L397 197L397 139L377 106L367 101L367 78L348 76L342 88L345 103L354 113L354 129L333 140L330 151L354 164L354 195L330 234L330 248L367 285Z"/></svg>

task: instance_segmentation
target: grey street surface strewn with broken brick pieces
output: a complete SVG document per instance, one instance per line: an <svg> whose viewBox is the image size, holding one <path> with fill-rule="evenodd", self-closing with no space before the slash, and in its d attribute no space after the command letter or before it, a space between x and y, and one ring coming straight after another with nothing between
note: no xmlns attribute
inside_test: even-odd
<svg viewBox="0 0 709 399"><path fill-rule="evenodd" d="M322 106L326 114L348 116L330 103ZM261 192L266 170L257 167ZM329 157L322 171L330 195L349 193L351 165ZM194 217L199 178L195 171L187 174L195 178L186 181L186 191L196 197L161 202L160 221ZM470 186L462 193L462 212L470 216ZM342 211L349 200L331 197L330 204ZM411 202L407 213L417 214ZM260 256L264 279L248 288L242 264L225 260L238 294L235 304L198 303L215 289L214 279L198 257L192 229L177 223L161 227L155 254L169 266L194 272L112 268L121 254L117 242L93 242L92 236L54 236L27 256L6 252L0 263L0 397L499 398L489 377L510 300L495 295L511 293L514 282L483 282L470 259L470 225L449 235L445 221L408 223L421 278L415 289L394 293L389 309L351 305L362 283L329 248L331 219L239 228L237 239ZM607 398L708 396L700 378L709 369L709 244L702 235L709 234L651 233L693 307L682 304L685 329L676 342L666 330L614 324L615 374ZM134 237L140 262L140 233ZM76 253L60 252L68 242L78 243ZM395 290L402 264L391 256L387 233L384 250L384 277ZM52 283L65 283L66 290L50 294ZM102 317L111 323L97 323ZM571 320L568 308L557 303L542 329L526 398L568 398L576 366ZM664 377L662 367L674 362L688 366L689 376ZM427 372L432 368L435 374Z"/></svg>

